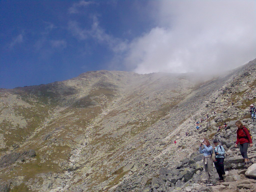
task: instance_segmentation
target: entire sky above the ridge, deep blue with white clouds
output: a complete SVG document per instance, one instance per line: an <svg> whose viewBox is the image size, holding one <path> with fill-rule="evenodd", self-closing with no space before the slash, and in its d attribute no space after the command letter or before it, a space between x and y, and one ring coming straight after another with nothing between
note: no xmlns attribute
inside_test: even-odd
<svg viewBox="0 0 256 192"><path fill-rule="evenodd" d="M0 1L0 88L91 70L207 72L256 57L255 1Z"/></svg>

